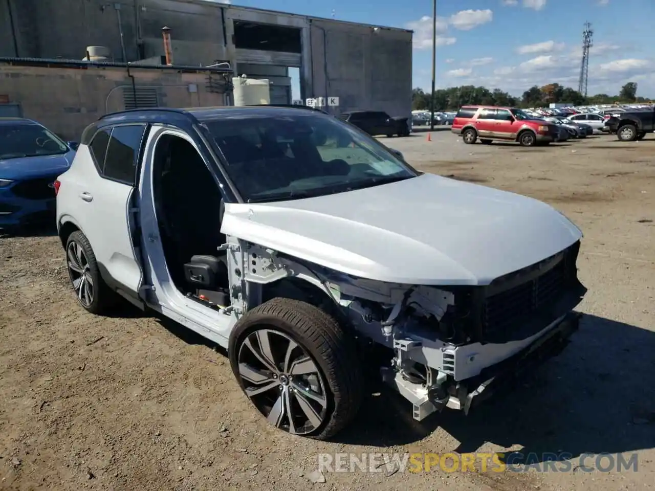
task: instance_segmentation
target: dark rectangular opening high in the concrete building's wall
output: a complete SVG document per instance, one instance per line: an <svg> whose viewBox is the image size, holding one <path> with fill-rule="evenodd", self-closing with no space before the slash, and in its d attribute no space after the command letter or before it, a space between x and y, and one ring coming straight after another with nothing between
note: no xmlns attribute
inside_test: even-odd
<svg viewBox="0 0 655 491"><path fill-rule="evenodd" d="M297 27L238 20L234 22L234 46L238 49L300 53L301 31Z"/></svg>

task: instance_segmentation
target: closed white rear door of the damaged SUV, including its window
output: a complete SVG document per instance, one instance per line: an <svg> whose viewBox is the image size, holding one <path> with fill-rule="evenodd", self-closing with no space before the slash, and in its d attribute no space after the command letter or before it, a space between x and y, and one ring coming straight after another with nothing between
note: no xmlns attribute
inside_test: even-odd
<svg viewBox="0 0 655 491"><path fill-rule="evenodd" d="M87 166L79 206L91 217L84 234L91 243L105 282L122 297L143 307L143 282L138 227L137 175L145 124L102 128L88 145L96 168Z"/></svg>

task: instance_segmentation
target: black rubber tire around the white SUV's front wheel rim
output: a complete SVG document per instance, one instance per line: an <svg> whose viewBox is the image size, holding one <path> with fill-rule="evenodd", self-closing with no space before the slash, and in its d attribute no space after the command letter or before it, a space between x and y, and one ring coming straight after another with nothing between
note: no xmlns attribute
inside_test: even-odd
<svg viewBox="0 0 655 491"><path fill-rule="evenodd" d="M240 351L248 336L261 329L291 338L309 355L326 382L327 405L322 423L302 435L325 440L347 426L360 408L364 388L354 340L339 323L319 308L285 298L269 300L247 312L234 326L228 346L232 371L246 397L246 386L239 371Z"/></svg>

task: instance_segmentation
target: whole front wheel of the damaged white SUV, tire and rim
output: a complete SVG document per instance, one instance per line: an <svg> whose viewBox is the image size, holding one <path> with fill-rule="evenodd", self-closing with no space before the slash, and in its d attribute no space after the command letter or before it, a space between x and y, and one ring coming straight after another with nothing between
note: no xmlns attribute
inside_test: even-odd
<svg viewBox="0 0 655 491"><path fill-rule="evenodd" d="M241 389L278 429L327 439L359 409L353 340L306 302L277 298L248 311L234 326L228 355Z"/></svg>

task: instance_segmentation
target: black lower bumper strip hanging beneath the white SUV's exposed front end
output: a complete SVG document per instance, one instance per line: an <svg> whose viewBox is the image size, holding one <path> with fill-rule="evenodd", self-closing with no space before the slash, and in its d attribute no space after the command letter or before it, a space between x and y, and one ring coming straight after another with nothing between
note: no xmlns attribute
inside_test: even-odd
<svg viewBox="0 0 655 491"><path fill-rule="evenodd" d="M541 365L546 360L560 354L569 338L578 330L582 314L569 312L546 334L534 340L521 352L491 367L483 369L476 377L464 380L466 395L455 399L451 396L449 407L463 409L468 413L492 395L510 391L521 380L521 375ZM460 392L461 393L461 392Z"/></svg>

